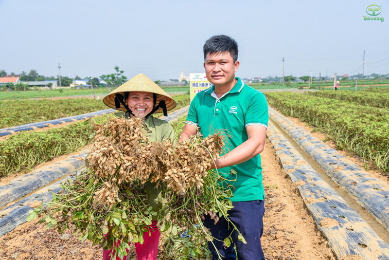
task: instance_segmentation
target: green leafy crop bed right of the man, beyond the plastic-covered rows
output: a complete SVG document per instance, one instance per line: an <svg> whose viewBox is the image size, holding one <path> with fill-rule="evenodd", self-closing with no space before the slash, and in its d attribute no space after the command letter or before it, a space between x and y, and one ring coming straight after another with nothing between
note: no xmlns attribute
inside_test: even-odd
<svg viewBox="0 0 389 260"><path fill-rule="evenodd" d="M365 93L366 100L369 94ZM298 117L348 149L389 171L389 110L301 93L266 93L268 103ZM367 101L366 101L367 102Z"/></svg>

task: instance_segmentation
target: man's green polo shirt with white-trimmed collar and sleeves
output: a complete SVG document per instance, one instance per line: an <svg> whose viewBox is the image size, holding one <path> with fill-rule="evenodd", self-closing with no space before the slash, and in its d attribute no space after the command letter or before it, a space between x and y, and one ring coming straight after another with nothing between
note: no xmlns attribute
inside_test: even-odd
<svg viewBox="0 0 389 260"><path fill-rule="evenodd" d="M237 77L236 80L230 92L220 98L214 93L214 86L197 93L186 118L187 124L200 128L203 137L213 134L214 130L227 130L229 136L226 136L226 141L229 150L248 140L247 126L259 125L267 128L269 119L265 95L242 83L240 78ZM226 153L227 151L223 152ZM231 174L231 169L237 174ZM218 171L234 187L231 201L265 199L259 154L244 163L220 168Z"/></svg>

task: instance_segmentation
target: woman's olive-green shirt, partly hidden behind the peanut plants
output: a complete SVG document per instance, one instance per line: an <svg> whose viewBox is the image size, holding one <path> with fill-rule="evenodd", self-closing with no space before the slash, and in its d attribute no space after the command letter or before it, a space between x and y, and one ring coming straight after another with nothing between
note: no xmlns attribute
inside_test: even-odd
<svg viewBox="0 0 389 260"><path fill-rule="evenodd" d="M123 114L124 112L115 113L118 117L122 117ZM124 117L128 119L130 117L129 113L125 113ZM174 140L174 129L167 121L150 115L144 121L144 124L147 127L145 134L150 136L150 142L159 142L164 139ZM166 197L162 194L162 187L156 187L155 183L147 181L144 184L144 189L149 193L148 204L153 207L153 211L159 212L163 205L166 204ZM164 212L161 212L161 214L163 215ZM157 218L158 216L153 216L153 220L157 220Z"/></svg>

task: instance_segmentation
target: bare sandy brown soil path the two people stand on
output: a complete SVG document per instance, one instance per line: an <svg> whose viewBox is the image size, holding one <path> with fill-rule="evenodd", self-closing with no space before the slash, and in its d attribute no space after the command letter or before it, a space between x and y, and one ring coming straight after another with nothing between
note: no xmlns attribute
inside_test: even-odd
<svg viewBox="0 0 389 260"><path fill-rule="evenodd" d="M262 243L266 259L335 260L268 140L262 158L266 192ZM98 246L79 241L72 232L46 230L36 221L24 223L0 238L0 260L94 260L101 256ZM133 252L131 256L129 259L135 259Z"/></svg>

